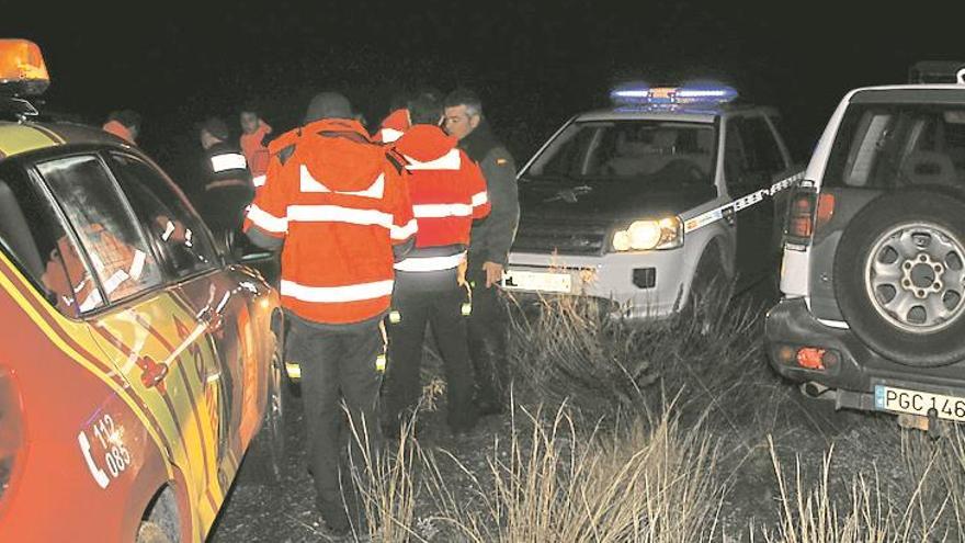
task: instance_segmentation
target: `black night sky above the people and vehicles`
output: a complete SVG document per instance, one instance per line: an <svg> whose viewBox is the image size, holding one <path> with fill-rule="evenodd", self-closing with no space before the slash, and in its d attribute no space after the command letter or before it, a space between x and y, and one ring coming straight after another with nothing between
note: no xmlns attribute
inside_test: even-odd
<svg viewBox="0 0 965 543"><path fill-rule="evenodd" d="M140 112L140 145L183 181L198 160L193 124L223 115L237 131L250 101L279 133L313 93L340 90L374 127L400 89L468 86L523 161L627 78L729 82L782 111L806 160L849 89L965 59L962 3L0 0L0 34L41 45L47 108L96 124Z"/></svg>

